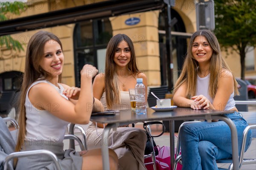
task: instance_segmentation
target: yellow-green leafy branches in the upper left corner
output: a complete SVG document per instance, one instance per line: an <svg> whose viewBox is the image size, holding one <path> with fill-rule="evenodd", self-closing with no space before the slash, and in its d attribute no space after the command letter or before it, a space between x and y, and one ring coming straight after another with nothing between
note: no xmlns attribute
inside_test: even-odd
<svg viewBox="0 0 256 170"><path fill-rule="evenodd" d="M26 4L24 2L0 2L0 21L8 20L9 14L19 15L20 12L26 10ZM1 25L1 24L0 24ZM13 48L15 51L23 50L22 44L13 39L10 35L4 35L0 37L0 47L6 45L8 49Z"/></svg>

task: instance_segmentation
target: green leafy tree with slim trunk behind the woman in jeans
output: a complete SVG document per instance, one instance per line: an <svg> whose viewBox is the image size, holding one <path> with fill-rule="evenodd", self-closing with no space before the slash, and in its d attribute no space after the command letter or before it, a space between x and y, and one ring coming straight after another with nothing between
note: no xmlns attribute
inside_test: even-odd
<svg viewBox="0 0 256 170"><path fill-rule="evenodd" d="M215 0L215 35L221 47L240 55L241 79L245 73L245 54L256 47L256 0Z"/></svg>

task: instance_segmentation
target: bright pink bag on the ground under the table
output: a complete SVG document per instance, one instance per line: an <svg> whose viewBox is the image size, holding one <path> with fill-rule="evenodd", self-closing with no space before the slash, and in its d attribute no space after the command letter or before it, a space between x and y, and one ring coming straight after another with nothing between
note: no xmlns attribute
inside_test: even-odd
<svg viewBox="0 0 256 170"><path fill-rule="evenodd" d="M163 146L161 148L157 146L157 148L159 152L159 154L156 156L157 170L171 170L171 159L170 159L171 148L169 146ZM175 148L175 152L176 152L176 148ZM176 158L176 154L175 154L175 158ZM151 158L146 158L144 162L145 163L151 162ZM147 170L154 170L152 164L146 165L146 168ZM177 170L181 170L181 169L182 169L182 165L178 163Z"/></svg>

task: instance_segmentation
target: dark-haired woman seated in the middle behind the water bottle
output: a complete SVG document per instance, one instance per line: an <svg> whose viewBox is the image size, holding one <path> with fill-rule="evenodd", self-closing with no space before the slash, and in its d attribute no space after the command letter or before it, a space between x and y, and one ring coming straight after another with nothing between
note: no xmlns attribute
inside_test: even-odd
<svg viewBox="0 0 256 170"><path fill-rule="evenodd" d="M135 88L137 78L143 78L143 84L147 89L147 78L139 71L136 64L133 42L127 35L117 34L108 43L105 73L98 74L93 81L93 96L101 100L105 109L130 109L129 88ZM100 136L104 125L99 123L97 125L98 127L92 123L87 130L88 139L99 141L97 143L88 141L89 148L100 147L102 141ZM109 147L116 152L120 169L146 169L144 150L147 137L144 130L134 127L118 127L109 136L116 139L116 141L112 140ZM133 143L126 142L131 139L134 140Z"/></svg>

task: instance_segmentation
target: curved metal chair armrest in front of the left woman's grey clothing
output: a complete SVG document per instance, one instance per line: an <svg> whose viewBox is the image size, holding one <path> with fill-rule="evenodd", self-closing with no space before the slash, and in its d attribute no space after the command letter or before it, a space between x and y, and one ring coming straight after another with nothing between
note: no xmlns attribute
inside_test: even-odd
<svg viewBox="0 0 256 170"><path fill-rule="evenodd" d="M52 159L52 161L54 162L56 168L58 170L62 170L61 164L58 162L57 156L49 150L29 150L29 151L21 151L21 152L11 153L6 157L6 159L4 161L4 170L8 169L8 162L11 159L14 159L17 157L26 157L26 156L42 155L42 154L49 156Z"/></svg>

